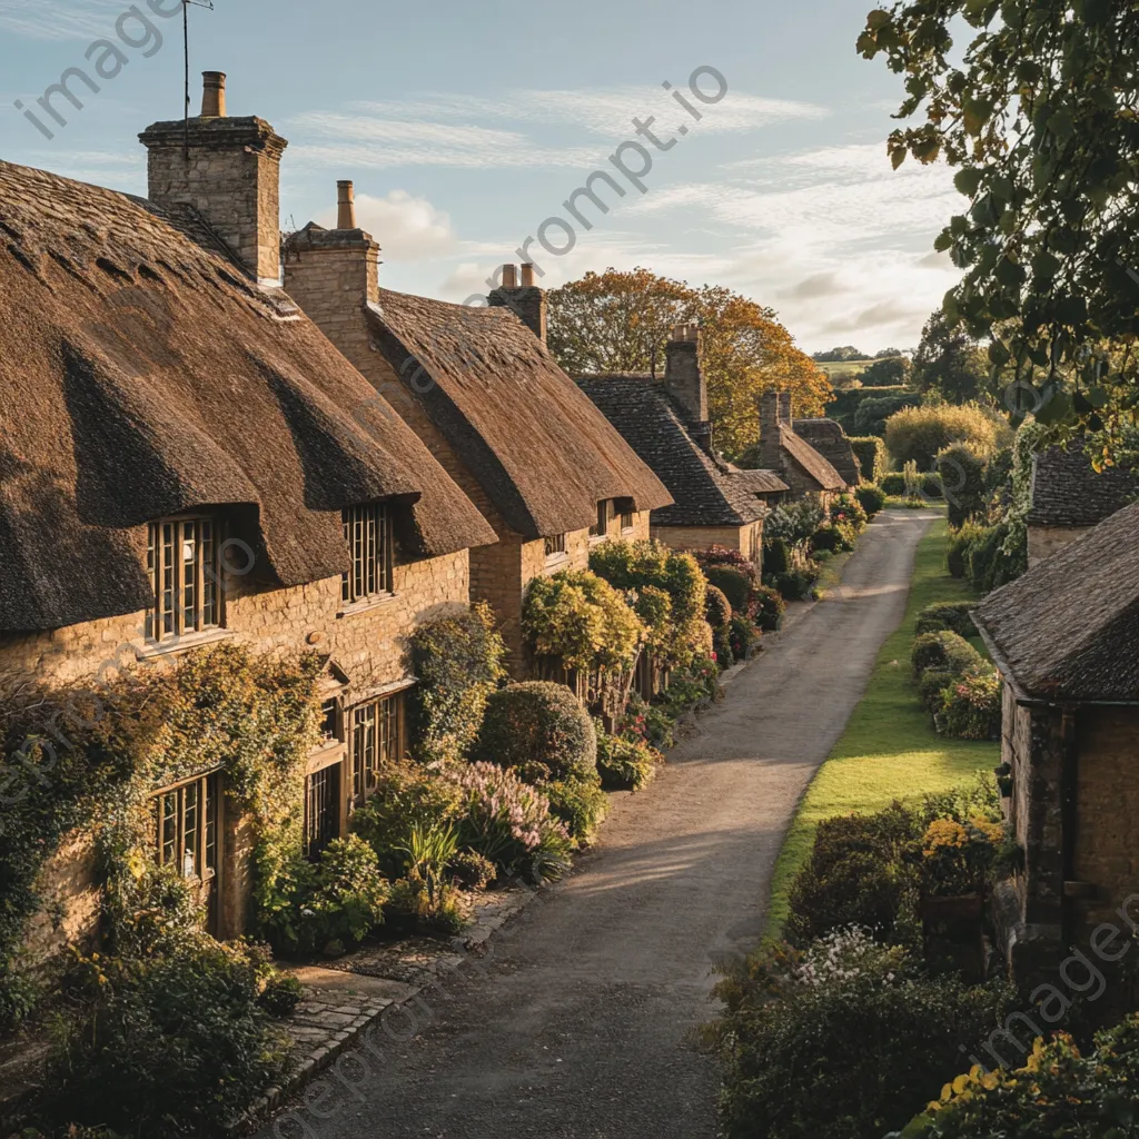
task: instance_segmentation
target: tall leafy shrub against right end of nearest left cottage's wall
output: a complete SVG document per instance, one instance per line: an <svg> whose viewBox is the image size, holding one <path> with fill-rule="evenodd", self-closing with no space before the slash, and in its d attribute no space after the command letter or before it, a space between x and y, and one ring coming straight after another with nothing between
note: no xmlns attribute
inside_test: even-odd
<svg viewBox="0 0 1139 1139"><path fill-rule="evenodd" d="M424 762L465 755L478 734L486 697L506 674L506 645L484 604L427 621L410 637L419 682L408 693L416 753Z"/></svg>

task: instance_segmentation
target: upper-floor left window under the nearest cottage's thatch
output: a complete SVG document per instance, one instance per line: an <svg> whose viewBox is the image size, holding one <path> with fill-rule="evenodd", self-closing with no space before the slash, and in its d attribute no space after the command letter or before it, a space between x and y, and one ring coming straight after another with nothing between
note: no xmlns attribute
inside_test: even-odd
<svg viewBox="0 0 1139 1139"><path fill-rule="evenodd" d="M154 605L146 620L148 640L173 640L221 625L218 547L212 517L150 523L146 564Z"/></svg>

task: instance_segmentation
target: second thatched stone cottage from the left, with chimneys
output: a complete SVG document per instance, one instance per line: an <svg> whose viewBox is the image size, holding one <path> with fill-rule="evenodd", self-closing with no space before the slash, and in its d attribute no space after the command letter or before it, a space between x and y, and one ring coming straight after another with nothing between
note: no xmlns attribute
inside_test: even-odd
<svg viewBox="0 0 1139 1139"><path fill-rule="evenodd" d="M501 621L515 675L527 674L522 605L542 574L584 568L607 538L649 533L671 501L653 472L546 346L546 296L524 265L489 306L379 287L379 246L339 186L338 228L286 243L285 287L390 401L493 527L470 554L470 592Z"/></svg>

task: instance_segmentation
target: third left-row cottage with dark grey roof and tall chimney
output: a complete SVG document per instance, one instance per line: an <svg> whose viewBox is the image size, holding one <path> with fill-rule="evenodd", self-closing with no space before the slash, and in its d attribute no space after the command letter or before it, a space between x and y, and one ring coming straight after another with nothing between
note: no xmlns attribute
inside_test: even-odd
<svg viewBox="0 0 1139 1139"><path fill-rule="evenodd" d="M652 535L678 550L724 546L759 570L763 559L764 494L787 484L771 472L734 474L712 445L699 333L679 325L665 346L664 377L582 376L582 391L656 472L673 502L650 518ZM762 489L747 478L760 476Z"/></svg>

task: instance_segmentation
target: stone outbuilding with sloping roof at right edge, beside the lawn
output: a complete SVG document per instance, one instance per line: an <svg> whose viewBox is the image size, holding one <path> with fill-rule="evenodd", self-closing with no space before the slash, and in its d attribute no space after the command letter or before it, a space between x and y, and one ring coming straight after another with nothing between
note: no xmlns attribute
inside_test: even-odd
<svg viewBox="0 0 1139 1139"><path fill-rule="evenodd" d="M975 611L1003 680L1006 814L1025 855L997 899L1017 980L1055 981L1068 947L1099 952L1107 923L1124 942L1139 923L1137 533L1126 507Z"/></svg>

